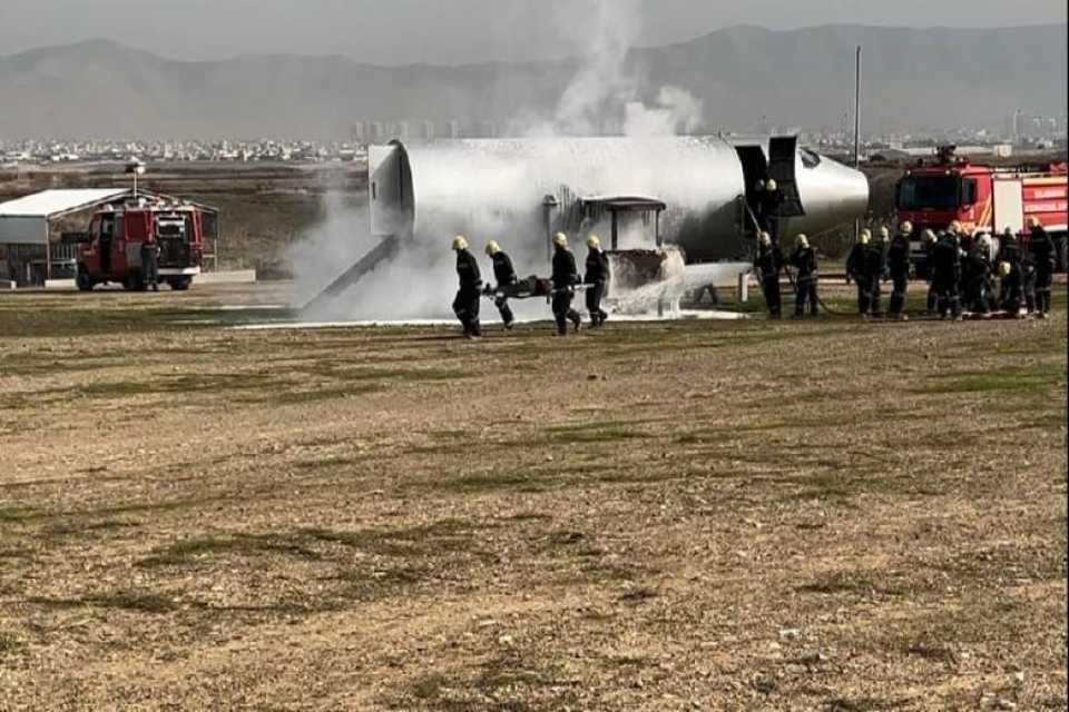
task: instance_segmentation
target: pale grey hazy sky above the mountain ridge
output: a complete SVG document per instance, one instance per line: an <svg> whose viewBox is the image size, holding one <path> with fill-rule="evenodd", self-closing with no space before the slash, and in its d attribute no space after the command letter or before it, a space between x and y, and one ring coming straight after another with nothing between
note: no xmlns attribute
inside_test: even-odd
<svg viewBox="0 0 1069 712"><path fill-rule="evenodd" d="M0 0L0 55L107 38L176 58L337 53L376 63L581 51L597 2L634 6L636 43L739 23L1000 27L1065 22L1065 0Z"/></svg>

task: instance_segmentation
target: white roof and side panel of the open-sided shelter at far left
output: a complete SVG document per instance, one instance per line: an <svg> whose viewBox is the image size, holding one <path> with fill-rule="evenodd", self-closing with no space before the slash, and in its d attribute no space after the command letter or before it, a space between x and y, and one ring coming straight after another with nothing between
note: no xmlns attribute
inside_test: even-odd
<svg viewBox="0 0 1069 712"><path fill-rule="evenodd" d="M49 220L121 200L129 195L129 190L115 188L45 190L0 202L0 244L43 245L48 241Z"/></svg>

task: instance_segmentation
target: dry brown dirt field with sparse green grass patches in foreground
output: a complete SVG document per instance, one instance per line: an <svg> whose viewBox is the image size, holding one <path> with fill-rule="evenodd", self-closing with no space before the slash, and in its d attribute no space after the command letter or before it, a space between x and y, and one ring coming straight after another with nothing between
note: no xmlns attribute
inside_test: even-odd
<svg viewBox="0 0 1069 712"><path fill-rule="evenodd" d="M2 710L1063 710L1066 312L0 296Z"/></svg>

